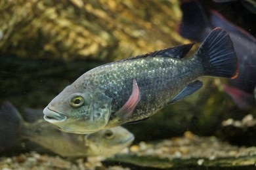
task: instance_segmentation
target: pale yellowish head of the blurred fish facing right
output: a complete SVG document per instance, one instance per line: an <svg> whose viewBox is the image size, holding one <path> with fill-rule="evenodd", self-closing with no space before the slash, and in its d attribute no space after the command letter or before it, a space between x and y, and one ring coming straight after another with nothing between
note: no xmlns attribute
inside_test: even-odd
<svg viewBox="0 0 256 170"><path fill-rule="evenodd" d="M112 156L133 143L133 133L121 126L85 135L85 145L95 155Z"/></svg>

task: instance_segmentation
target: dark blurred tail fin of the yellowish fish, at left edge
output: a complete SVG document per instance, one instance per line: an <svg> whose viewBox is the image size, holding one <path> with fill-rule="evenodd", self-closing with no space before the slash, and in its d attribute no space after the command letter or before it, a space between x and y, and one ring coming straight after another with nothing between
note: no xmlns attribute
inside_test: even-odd
<svg viewBox="0 0 256 170"><path fill-rule="evenodd" d="M20 144L22 124L18 110L5 101L0 108L0 152Z"/></svg>

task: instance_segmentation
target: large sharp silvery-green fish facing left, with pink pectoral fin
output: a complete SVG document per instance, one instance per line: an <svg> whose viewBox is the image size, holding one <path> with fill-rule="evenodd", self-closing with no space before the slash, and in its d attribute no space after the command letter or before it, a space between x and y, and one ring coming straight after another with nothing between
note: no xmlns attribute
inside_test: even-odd
<svg viewBox="0 0 256 170"><path fill-rule="evenodd" d="M92 133L149 118L196 92L199 76L235 78L238 60L226 31L216 28L190 58L184 44L107 63L87 71L43 110L47 122L69 133Z"/></svg>

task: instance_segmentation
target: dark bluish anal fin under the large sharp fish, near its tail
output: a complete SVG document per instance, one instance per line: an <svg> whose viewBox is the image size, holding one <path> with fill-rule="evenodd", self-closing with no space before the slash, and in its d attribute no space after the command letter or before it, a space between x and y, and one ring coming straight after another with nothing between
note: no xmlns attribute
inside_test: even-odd
<svg viewBox="0 0 256 170"><path fill-rule="evenodd" d="M203 83L200 82L200 80L195 80L194 82L190 82L178 95L176 95L170 103L174 103L175 101L179 101L183 99L184 97L196 92L198 89L200 89L203 86Z"/></svg>

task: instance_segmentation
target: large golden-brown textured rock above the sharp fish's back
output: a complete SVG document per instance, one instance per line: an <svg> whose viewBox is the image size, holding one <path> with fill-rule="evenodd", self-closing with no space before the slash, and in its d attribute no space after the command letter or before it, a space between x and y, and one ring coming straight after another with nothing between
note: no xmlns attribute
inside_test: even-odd
<svg viewBox="0 0 256 170"><path fill-rule="evenodd" d="M1 1L1 55L126 58L181 44L177 1Z"/></svg>

